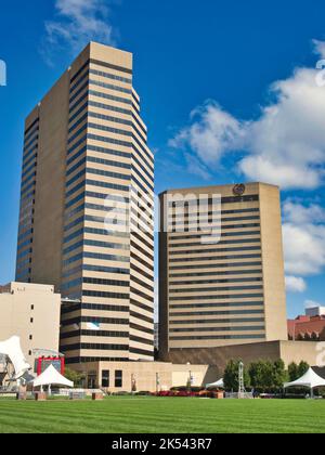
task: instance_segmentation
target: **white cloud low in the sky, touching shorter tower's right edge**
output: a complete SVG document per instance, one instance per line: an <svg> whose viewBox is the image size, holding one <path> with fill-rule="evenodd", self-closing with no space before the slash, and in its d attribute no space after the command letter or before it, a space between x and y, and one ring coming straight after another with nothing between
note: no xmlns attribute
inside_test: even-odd
<svg viewBox="0 0 325 455"><path fill-rule="evenodd" d="M287 200L283 211L286 272L300 276L321 273L325 266L325 210Z"/></svg>

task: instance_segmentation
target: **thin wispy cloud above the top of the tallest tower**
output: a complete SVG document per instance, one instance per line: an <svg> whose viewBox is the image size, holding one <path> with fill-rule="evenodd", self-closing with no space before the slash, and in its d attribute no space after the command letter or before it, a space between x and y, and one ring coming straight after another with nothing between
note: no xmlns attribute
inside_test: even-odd
<svg viewBox="0 0 325 455"><path fill-rule="evenodd" d="M51 53L68 48L80 52L89 41L114 44L114 29L104 0L55 0L57 18L46 22L46 42L42 53L51 61Z"/></svg>

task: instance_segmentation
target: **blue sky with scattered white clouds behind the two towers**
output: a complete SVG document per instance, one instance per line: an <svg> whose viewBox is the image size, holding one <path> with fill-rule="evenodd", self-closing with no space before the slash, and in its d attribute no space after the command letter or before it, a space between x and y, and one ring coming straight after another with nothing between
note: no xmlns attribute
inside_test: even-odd
<svg viewBox="0 0 325 455"><path fill-rule="evenodd" d="M325 304L324 16L323 0L2 4L0 283L14 278L24 118L94 40L134 54L156 192L280 185L288 315Z"/></svg>

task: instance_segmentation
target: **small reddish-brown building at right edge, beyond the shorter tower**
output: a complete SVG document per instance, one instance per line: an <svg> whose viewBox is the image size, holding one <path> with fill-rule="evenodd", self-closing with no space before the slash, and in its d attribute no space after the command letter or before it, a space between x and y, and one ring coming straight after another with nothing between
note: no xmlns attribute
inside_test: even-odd
<svg viewBox="0 0 325 455"><path fill-rule="evenodd" d="M324 341L325 340L325 313L318 309L307 310L307 315L288 321L288 337L295 341ZM317 311L316 311L317 310Z"/></svg>

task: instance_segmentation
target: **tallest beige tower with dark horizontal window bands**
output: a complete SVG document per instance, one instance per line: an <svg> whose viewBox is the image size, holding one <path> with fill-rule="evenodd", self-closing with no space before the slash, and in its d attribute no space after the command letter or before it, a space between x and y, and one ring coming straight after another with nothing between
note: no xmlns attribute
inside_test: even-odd
<svg viewBox="0 0 325 455"><path fill-rule="evenodd" d="M154 157L132 73L91 42L26 119L16 280L67 299L67 363L154 354Z"/></svg>

